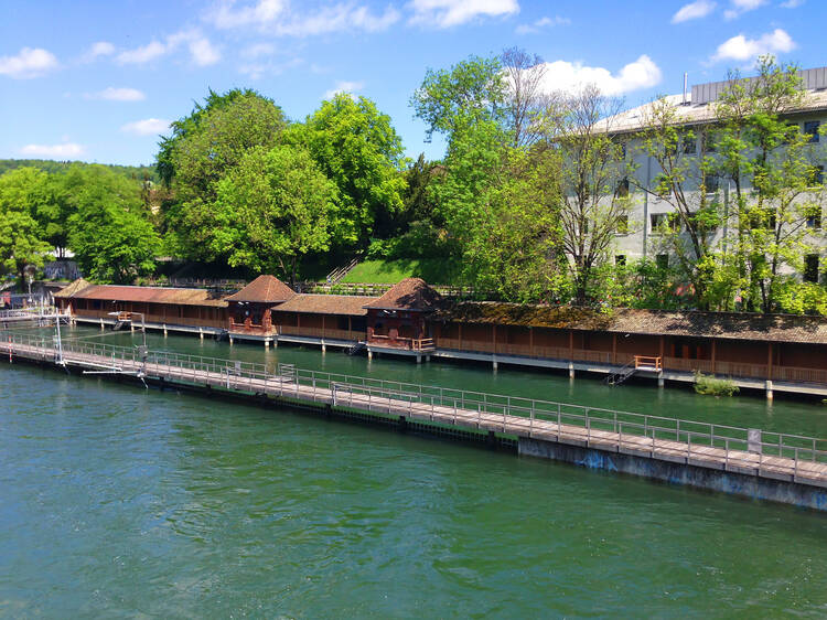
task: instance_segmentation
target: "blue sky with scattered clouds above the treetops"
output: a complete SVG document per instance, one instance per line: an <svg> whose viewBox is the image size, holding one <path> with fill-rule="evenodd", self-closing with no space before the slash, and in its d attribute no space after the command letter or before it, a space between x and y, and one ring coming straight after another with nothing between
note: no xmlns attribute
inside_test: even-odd
<svg viewBox="0 0 827 620"><path fill-rule="evenodd" d="M517 45L546 88L594 82L627 106L749 70L827 65L825 0L0 0L0 158L151 163L207 88L256 88L294 119L336 89L442 154L408 105L428 67Z"/></svg>

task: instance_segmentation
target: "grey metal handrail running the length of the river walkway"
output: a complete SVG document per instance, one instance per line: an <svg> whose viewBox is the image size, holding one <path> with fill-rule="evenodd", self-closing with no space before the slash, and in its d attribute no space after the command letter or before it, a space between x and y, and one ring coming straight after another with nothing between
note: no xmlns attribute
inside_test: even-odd
<svg viewBox="0 0 827 620"><path fill-rule="evenodd" d="M13 348L12 344L18 345ZM56 355L56 349L51 339L11 332L0 332L0 351L8 354L21 355L29 348L35 359L47 360ZM15 350L17 349L17 350ZM629 436L645 437L652 441L670 440L685 446L686 453L691 455L699 446L709 446L724 450L740 450L744 453L759 452L759 464L767 456L784 457L802 462L827 462L827 439L818 439L802 435L782 434L775 431L759 431L756 440L750 429L702 423L696 420L667 418L647 414L635 414L600 407L588 407L571 403L539 400L519 396L488 394L449 387L428 386L421 384L378 380L310 371L287 366L276 366L255 362L206 357L190 355L173 351L158 350L141 352L135 348L119 346L95 341L69 341L63 345L63 359L83 363L83 356L94 356L97 362L101 359L110 362L115 367L133 367L143 365L154 368L154 372L176 371L189 381L197 382L197 373L214 373L226 376L227 385L244 386L245 382L253 385L254 381L283 381L294 383L297 393L299 386L311 388L314 400L330 399L334 391L351 391L367 394L368 399L375 397L402 398L417 407L417 413L428 413L433 416L439 408L454 411L474 411L477 420L484 417L502 417L503 425L508 416L526 419L530 425L535 420L554 421L581 428L587 439L592 440L598 431L619 434L622 438ZM283 374L282 374L283 373ZM325 396L325 393L327 396ZM383 396L385 395L385 396ZM497 419L498 419L497 418ZM505 426L503 426L505 428ZM754 432L754 431L753 431Z"/></svg>

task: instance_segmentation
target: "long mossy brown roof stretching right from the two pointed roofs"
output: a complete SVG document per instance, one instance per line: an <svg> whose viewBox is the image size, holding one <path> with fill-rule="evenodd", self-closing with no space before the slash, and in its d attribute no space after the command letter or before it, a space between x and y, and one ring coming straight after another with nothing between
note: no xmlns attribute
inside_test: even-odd
<svg viewBox="0 0 827 620"><path fill-rule="evenodd" d="M433 320L649 335L827 344L827 318L739 312L595 310L491 301L457 303Z"/></svg>

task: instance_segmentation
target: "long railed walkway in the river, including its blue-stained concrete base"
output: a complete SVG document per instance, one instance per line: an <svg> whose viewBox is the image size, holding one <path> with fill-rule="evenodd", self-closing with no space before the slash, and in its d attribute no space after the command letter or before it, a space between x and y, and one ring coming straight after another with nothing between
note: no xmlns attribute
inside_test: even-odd
<svg viewBox="0 0 827 620"><path fill-rule="evenodd" d="M0 355L84 374L359 417L519 455L827 510L827 440L367 377L292 365L0 334Z"/></svg>

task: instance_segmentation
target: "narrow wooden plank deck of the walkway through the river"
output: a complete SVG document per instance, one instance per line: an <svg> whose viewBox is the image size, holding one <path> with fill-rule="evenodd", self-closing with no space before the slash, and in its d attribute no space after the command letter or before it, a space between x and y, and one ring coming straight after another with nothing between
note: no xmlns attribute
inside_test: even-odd
<svg viewBox="0 0 827 620"><path fill-rule="evenodd" d="M0 354L9 355L10 360L15 356L40 360L85 368L86 372L92 373L128 374L149 380L163 380L174 384L262 394L299 403L314 403L336 408L346 407L385 416L438 423L457 428L589 447L606 452L632 455L827 488L827 452L815 449L816 442L820 441L817 439L812 439L813 449L784 446L780 447L777 453L773 455L766 452L774 448L774 445L762 443L759 450L754 451L731 449L729 447L730 441L740 441L741 443L744 441L712 435L707 438L708 440L704 445L701 442L704 437L700 434L687 435L686 431L683 431L686 440L678 440L681 437L681 431L676 434L678 439L664 439L658 438L656 431L668 431L670 429L658 429L651 426L649 429L654 430L649 436L649 432L642 425L635 423L622 421L616 429L611 430L595 428L593 423L590 424L588 417L584 424L566 424L561 421L559 409L557 419L554 419L554 415L548 411L529 411L525 408L519 409L520 415L509 413L511 409L503 409L502 413L491 411L480 403L463 406L464 402L459 398L445 403L444 398L440 400L422 397L421 394L404 389L356 385L345 382L316 382L315 378L310 383L310 380L302 380L290 372L280 374L244 372L238 364L234 365L232 361L213 361L210 364L194 364L192 367L187 367L182 363L175 363L179 356L164 352L147 354L144 360L138 355L117 356L115 352L111 355L103 355L64 351L61 362L57 351L52 346L0 340ZM173 361L164 363L164 355ZM615 426L617 426L616 423ZM678 428L680 428L679 423ZM692 438L692 435L696 437ZM810 440L809 438L799 439ZM716 445L716 440L718 440L718 443L726 440L723 441L724 446ZM792 457L786 456L785 450L787 452L794 450L794 455Z"/></svg>

